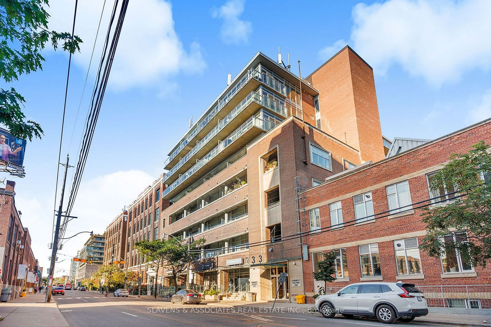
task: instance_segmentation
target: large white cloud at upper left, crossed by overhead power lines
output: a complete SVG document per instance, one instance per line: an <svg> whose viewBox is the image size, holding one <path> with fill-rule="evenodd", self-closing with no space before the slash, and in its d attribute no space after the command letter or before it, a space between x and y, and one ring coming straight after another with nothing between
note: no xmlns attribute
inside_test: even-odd
<svg viewBox="0 0 491 327"><path fill-rule="evenodd" d="M75 34L83 43L81 52L73 56L75 63L88 67L103 1L79 1ZM74 4L72 1L52 0L48 12L50 29L71 31ZM91 71L97 69L106 37L112 3L104 8ZM119 10L118 10L119 13ZM117 17L116 17L117 19ZM115 23L113 24L114 28ZM112 65L109 85L125 88L146 85L180 72L201 72L206 64L200 46L192 42L185 50L172 19L172 6L162 0L130 1ZM93 70L92 70L93 69Z"/></svg>

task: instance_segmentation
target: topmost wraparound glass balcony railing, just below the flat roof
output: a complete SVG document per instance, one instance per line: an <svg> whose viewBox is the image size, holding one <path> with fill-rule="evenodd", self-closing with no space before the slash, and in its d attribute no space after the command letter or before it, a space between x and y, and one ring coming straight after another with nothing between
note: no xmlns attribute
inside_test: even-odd
<svg viewBox="0 0 491 327"><path fill-rule="evenodd" d="M212 111L206 117L203 119L201 123L199 123L191 132L191 134L186 137L184 141L181 142L181 144L174 150L167 160L164 162L164 166L167 166L167 164L172 161L183 149L188 145L189 142L196 136L196 134L199 133L200 130L202 130L208 122L213 120L213 118L217 115L217 113L227 104L246 84L247 82L251 79L255 78L256 80L264 83L265 85L268 85L270 88L275 90L276 92L282 94L283 96L287 97L288 93L288 87L278 81L277 79L273 78L270 75L267 74L261 74L259 71L257 71L254 68L251 68L244 77L235 85L223 99L218 101L218 104L213 108ZM293 102L291 102L297 110L300 109L300 105L297 105ZM240 104L239 104L240 105ZM237 108L237 107L236 107ZM278 112L279 113L279 112Z"/></svg>

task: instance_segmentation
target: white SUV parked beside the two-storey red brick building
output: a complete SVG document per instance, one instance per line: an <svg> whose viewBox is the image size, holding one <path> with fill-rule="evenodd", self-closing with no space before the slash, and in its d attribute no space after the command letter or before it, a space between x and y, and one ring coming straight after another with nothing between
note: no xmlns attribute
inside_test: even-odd
<svg viewBox="0 0 491 327"><path fill-rule="evenodd" d="M414 284L407 283L355 283L335 294L319 296L315 306L325 318L339 313L348 318L377 317L385 324L397 319L407 323L428 314L423 293Z"/></svg>

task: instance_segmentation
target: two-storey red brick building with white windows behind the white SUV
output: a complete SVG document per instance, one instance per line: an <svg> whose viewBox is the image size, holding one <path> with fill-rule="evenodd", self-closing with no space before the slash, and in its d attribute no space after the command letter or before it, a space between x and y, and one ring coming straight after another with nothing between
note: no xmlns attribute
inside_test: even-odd
<svg viewBox="0 0 491 327"><path fill-rule="evenodd" d="M432 208L455 200L445 195L453 187L429 190L432 174L448 162L450 154L466 152L482 140L491 142L491 119L367 162L307 190L311 232L303 274L310 301L317 286L324 285L313 280L314 264L322 252L334 250L337 279L328 285L328 292L359 281L403 281L418 285L433 306L490 308L489 292L481 293L478 285L491 283L491 267L472 267L455 252L433 258L418 249L426 234L419 206ZM443 201L429 201L440 196ZM315 220L320 224L312 223ZM464 234L455 231L446 241Z"/></svg>

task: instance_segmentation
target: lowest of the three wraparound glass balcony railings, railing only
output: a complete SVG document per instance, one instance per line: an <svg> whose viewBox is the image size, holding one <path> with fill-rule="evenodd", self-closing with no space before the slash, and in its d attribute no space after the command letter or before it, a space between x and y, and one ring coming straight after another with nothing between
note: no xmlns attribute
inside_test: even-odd
<svg viewBox="0 0 491 327"><path fill-rule="evenodd" d="M177 186L179 186L182 182L184 182L186 179L188 179L190 176L192 176L194 173L196 173L200 168L202 168L207 162L209 162L211 159L216 157L221 151L225 150L229 145L234 143L237 139L239 139L243 134L246 133L249 129L252 127L257 127L260 129L263 129L264 131L269 131L271 130L274 126L276 126L273 122L265 122L259 117L252 116L250 117L242 126L237 128L232 134L230 134L223 142L218 144L215 149L212 151L208 152L201 160L199 160L194 166L192 166L186 173L184 173L182 176L180 176L178 179L176 179L172 184L170 184L165 190L164 190L164 196L169 194L171 191L173 191Z"/></svg>

